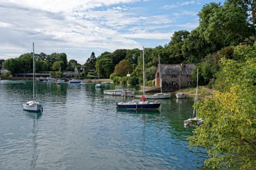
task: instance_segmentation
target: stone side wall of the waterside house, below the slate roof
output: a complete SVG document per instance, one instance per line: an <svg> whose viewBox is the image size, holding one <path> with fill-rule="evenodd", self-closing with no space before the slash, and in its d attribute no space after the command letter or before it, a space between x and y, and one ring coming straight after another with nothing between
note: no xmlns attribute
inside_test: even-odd
<svg viewBox="0 0 256 170"><path fill-rule="evenodd" d="M176 84L171 84L171 82L176 82ZM195 87L196 84L188 84L192 82L192 77L187 77L187 75L180 75L180 88ZM162 75L162 90L167 91L178 91L179 90L179 75L172 77L172 75Z"/></svg>

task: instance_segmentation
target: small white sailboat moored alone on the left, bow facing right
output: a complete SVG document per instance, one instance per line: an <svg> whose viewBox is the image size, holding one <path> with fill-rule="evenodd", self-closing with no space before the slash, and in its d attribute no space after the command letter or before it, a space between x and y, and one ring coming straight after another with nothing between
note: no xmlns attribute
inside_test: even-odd
<svg viewBox="0 0 256 170"><path fill-rule="evenodd" d="M34 43L33 43L33 100L30 100L26 103L23 104L23 109L24 110L30 110L30 111L39 111L42 108L42 104L40 104L38 101L35 101L35 55L34 55ZM36 91L37 93L37 91ZM37 96L37 94L36 94Z"/></svg>

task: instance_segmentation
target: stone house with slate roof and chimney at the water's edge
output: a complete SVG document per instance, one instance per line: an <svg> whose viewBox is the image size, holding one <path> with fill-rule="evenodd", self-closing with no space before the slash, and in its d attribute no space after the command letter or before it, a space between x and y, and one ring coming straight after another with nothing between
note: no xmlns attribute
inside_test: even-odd
<svg viewBox="0 0 256 170"><path fill-rule="evenodd" d="M192 72L195 69L195 64L160 64L161 80L159 73L159 64L155 74L155 86L161 86L162 91L177 91L180 88L194 87L192 84Z"/></svg>

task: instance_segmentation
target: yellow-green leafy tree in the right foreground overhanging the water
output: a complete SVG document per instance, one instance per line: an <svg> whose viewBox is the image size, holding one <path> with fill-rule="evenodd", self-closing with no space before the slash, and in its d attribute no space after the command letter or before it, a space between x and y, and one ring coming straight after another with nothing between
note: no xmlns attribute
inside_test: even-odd
<svg viewBox="0 0 256 170"><path fill-rule="evenodd" d="M221 59L230 93L217 91L195 107L204 124L189 137L190 146L205 147L215 169L256 168L256 54L254 47L238 46L246 62Z"/></svg>

